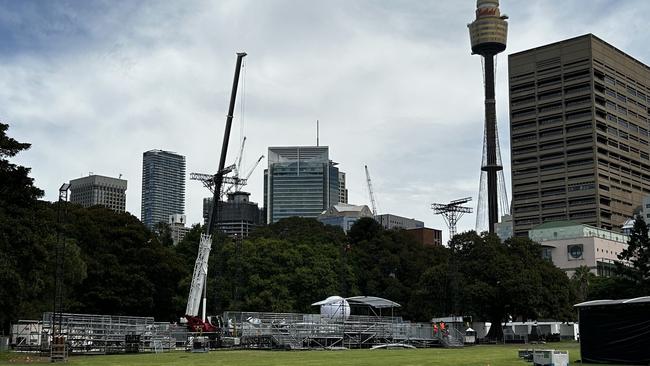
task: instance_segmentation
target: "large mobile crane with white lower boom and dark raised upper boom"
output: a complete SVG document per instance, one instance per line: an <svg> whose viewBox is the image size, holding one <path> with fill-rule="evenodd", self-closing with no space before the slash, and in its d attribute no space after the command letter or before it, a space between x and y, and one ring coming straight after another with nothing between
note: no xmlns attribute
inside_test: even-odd
<svg viewBox="0 0 650 366"><path fill-rule="evenodd" d="M185 308L185 319L191 331L214 332L216 327L209 321L206 321L206 279L208 275L208 259L210 249L212 248L212 231L216 227L218 217L218 202L221 195L221 186L224 183L224 175L227 174L231 167L226 168L226 155L228 154L228 141L230 139L230 129L232 127L232 117L235 109L235 100L237 98L237 86L239 84L239 73L241 71L242 61L246 57L245 52L237 53L237 62L235 64L235 76L232 83L232 92L230 94L230 105L228 115L226 116L226 129L223 134L223 143L221 144L221 157L219 159L219 169L212 176L214 184L212 206L208 214L208 224L205 227L205 233L201 234L199 242L199 251L194 263L194 272L192 274L192 283L187 298L187 307ZM230 170L229 170L230 169ZM203 313L198 317L199 306L201 305L201 290L203 290Z"/></svg>

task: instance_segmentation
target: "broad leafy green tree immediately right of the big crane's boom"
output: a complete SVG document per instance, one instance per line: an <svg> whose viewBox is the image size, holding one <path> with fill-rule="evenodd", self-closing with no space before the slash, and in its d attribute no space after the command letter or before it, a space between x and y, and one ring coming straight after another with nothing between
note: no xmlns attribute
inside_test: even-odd
<svg viewBox="0 0 650 366"><path fill-rule="evenodd" d="M354 278L342 259L343 231L314 219L280 220L239 245L226 238L213 244L208 308L215 311L311 312L313 302Z"/></svg>

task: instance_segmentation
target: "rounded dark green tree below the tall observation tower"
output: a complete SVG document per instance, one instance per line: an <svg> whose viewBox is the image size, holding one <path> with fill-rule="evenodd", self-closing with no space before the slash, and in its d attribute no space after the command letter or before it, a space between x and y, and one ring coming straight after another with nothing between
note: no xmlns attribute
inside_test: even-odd
<svg viewBox="0 0 650 366"><path fill-rule="evenodd" d="M500 324L510 317L571 318L569 279L542 259L539 244L528 238L501 243L496 235L468 232L450 245L459 264L459 313L490 321L488 338L503 339Z"/></svg>

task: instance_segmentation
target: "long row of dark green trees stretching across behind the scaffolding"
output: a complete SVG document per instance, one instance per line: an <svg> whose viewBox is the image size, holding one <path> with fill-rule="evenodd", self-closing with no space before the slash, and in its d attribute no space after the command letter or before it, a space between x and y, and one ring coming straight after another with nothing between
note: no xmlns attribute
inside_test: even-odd
<svg viewBox="0 0 650 366"><path fill-rule="evenodd" d="M202 228L193 226L174 246L164 225L150 231L129 213L40 200L43 191L29 169L9 161L29 144L8 137L7 129L0 124L2 332L18 319L40 319L52 310L54 253L61 240L66 312L182 317ZM642 240L647 231L637 241ZM346 234L294 217L260 227L244 240L213 236L208 313L311 313L318 311L311 303L328 296L368 295L401 304L396 314L412 321L450 314L493 323L575 320L577 301L632 286L589 276L570 280L541 251L526 238L502 243L475 232L455 236L449 247L422 246L405 230L385 230L369 218ZM624 277L647 282L633 275ZM499 327L492 328L498 338Z"/></svg>

